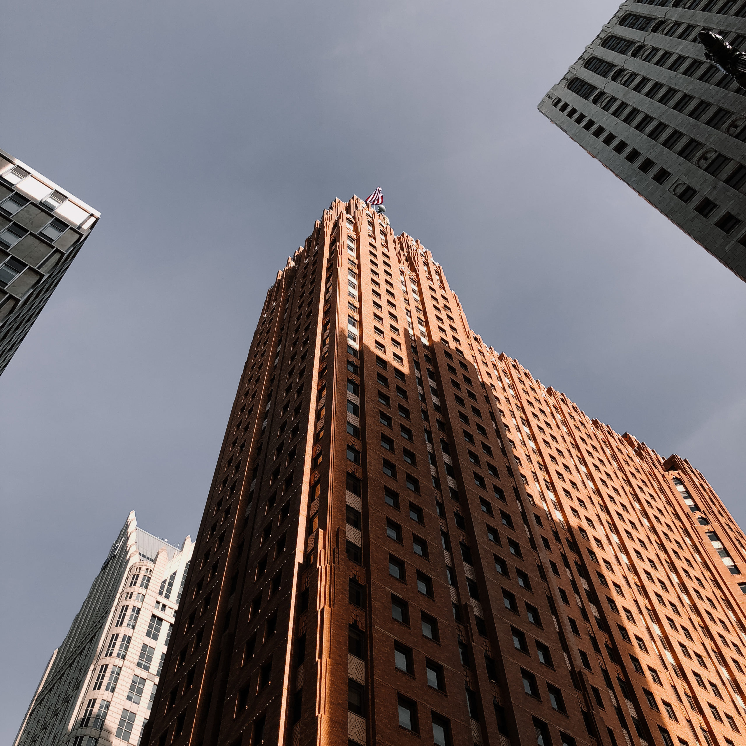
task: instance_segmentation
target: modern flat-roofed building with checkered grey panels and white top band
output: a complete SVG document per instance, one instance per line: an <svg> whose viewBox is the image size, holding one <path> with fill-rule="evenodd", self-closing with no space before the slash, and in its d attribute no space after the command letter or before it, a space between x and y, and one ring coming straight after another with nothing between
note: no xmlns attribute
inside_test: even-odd
<svg viewBox="0 0 746 746"><path fill-rule="evenodd" d="M99 216L0 150L0 374Z"/></svg>

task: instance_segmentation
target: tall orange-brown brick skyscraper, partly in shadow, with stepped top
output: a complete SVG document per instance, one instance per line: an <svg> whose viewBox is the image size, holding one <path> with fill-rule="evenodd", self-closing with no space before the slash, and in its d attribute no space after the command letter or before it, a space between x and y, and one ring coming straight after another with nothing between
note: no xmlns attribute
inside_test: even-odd
<svg viewBox="0 0 746 746"><path fill-rule="evenodd" d="M742 745L745 545L334 201L267 295L142 742Z"/></svg>

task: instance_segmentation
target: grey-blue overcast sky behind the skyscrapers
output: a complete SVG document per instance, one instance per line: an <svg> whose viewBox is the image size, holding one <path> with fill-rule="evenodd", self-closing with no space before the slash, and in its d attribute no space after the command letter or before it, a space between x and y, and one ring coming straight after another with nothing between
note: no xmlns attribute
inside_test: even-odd
<svg viewBox="0 0 746 746"><path fill-rule="evenodd" d="M0 378L13 741L128 511L195 536L260 307L383 188L469 322L742 525L746 285L536 110L614 0L24 0L0 147L98 227Z"/></svg>

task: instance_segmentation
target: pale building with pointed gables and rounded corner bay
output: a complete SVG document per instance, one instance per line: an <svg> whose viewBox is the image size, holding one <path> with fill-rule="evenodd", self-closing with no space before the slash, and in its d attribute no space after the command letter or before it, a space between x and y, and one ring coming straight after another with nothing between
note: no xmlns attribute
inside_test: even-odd
<svg viewBox="0 0 746 746"><path fill-rule="evenodd" d="M192 541L176 548L130 513L64 642L52 653L14 746L119 746L148 720Z"/></svg>

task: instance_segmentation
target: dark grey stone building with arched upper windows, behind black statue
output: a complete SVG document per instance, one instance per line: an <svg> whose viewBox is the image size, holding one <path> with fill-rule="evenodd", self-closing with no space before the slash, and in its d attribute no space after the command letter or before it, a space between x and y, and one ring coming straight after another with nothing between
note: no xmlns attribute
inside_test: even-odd
<svg viewBox="0 0 746 746"><path fill-rule="evenodd" d="M624 2L539 111L746 280L746 90L703 29L746 48L746 0Z"/></svg>

